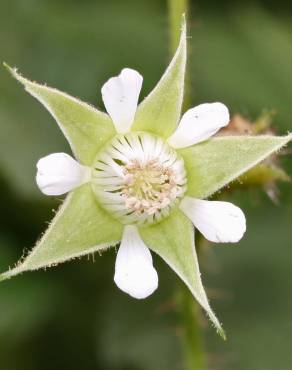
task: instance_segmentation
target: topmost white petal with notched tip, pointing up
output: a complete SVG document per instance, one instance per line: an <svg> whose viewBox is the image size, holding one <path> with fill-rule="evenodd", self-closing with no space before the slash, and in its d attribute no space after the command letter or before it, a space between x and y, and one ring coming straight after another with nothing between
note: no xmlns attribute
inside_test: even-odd
<svg viewBox="0 0 292 370"><path fill-rule="evenodd" d="M125 68L119 76L110 78L102 87L102 99L118 133L130 131L138 105L143 77Z"/></svg>

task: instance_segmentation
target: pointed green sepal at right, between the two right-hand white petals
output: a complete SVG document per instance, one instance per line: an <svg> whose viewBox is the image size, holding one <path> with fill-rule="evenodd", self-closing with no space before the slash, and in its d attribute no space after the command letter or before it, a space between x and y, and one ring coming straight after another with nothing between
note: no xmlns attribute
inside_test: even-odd
<svg viewBox="0 0 292 370"><path fill-rule="evenodd" d="M292 135L216 137L179 150L187 170L187 195L209 197L291 139Z"/></svg>

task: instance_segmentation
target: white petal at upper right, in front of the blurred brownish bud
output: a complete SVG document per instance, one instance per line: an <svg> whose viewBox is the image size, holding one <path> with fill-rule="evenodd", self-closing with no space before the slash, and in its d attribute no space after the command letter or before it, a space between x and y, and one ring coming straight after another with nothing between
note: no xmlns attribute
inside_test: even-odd
<svg viewBox="0 0 292 370"><path fill-rule="evenodd" d="M222 103L207 103L189 109L176 131L169 137L173 148L185 148L209 139L230 120L228 108Z"/></svg>

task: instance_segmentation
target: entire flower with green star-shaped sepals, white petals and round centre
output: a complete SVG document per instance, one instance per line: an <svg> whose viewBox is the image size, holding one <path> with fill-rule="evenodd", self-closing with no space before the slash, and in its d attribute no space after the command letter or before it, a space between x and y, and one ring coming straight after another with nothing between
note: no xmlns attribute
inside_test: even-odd
<svg viewBox="0 0 292 370"><path fill-rule="evenodd" d="M138 105L142 76L126 68L102 87L108 114L56 89L11 74L52 114L72 148L37 164L47 195L68 193L35 248L1 280L120 243L114 281L135 298L158 286L151 252L177 273L218 331L202 285L194 226L213 242L237 242L246 224L228 202L205 200L285 145L291 136L212 136L229 122L222 103L181 117L186 29L152 92Z"/></svg>

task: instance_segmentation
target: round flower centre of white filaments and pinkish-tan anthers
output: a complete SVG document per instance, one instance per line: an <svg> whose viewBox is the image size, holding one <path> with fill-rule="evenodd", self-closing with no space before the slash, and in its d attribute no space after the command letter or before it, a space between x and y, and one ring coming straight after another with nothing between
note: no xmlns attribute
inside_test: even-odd
<svg viewBox="0 0 292 370"><path fill-rule="evenodd" d="M148 133L116 136L94 163L99 203L125 224L151 224L169 215L186 191L182 158Z"/></svg>

